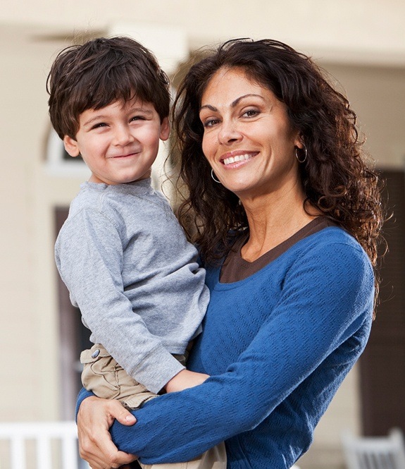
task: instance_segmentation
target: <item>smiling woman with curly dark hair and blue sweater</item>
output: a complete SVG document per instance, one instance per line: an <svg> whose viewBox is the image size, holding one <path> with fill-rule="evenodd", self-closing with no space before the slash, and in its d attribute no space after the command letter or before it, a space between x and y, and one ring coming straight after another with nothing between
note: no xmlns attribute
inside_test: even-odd
<svg viewBox="0 0 405 469"><path fill-rule="evenodd" d="M92 468L186 461L225 440L228 468L289 468L366 346L382 223L356 114L306 56L230 41L192 66L174 109L180 221L211 302L189 368L204 384L135 413L82 392ZM211 177L212 176L212 177ZM84 400L83 400L84 399ZM124 426L132 425L132 426Z"/></svg>

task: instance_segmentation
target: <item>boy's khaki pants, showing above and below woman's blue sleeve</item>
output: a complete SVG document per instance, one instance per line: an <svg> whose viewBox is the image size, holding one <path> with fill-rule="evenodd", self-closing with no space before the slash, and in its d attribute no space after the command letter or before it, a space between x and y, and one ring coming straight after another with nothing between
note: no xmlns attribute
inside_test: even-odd
<svg viewBox="0 0 405 469"><path fill-rule="evenodd" d="M96 396L117 399L130 409L139 408L149 399L158 397L130 377L100 343L83 351L80 361L83 365L83 386L87 391L93 391ZM225 444L220 443L198 458L185 463L139 465L143 469L226 469Z"/></svg>

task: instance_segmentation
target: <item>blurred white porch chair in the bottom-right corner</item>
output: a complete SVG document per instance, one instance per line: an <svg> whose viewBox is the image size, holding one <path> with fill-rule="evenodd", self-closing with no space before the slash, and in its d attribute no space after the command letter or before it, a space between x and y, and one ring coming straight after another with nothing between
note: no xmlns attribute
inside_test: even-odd
<svg viewBox="0 0 405 469"><path fill-rule="evenodd" d="M392 429L387 437L342 435L348 469L405 469L404 437Z"/></svg>

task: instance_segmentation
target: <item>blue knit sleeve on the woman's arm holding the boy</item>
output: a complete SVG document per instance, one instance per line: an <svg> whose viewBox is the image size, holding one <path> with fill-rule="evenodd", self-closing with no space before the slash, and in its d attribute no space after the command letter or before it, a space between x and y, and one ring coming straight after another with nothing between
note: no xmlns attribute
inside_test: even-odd
<svg viewBox="0 0 405 469"><path fill-rule="evenodd" d="M369 323L373 272L364 252L344 244L319 249L289 269L278 305L225 373L148 402L133 427L115 422L118 448L142 463L186 461L251 430ZM316 262L318 255L327 261Z"/></svg>

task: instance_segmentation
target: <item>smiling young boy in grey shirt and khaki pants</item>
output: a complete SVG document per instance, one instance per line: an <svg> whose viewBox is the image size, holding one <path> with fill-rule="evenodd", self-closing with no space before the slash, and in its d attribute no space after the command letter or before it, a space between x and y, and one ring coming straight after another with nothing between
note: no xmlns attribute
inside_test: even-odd
<svg viewBox="0 0 405 469"><path fill-rule="evenodd" d="M99 38L61 51L47 89L66 151L92 172L55 248L92 331L94 346L80 358L84 386L139 408L159 391L201 384L207 375L186 370L184 359L208 304L205 272L150 180L159 140L169 136L168 78L133 39ZM182 467L211 468L208 459Z"/></svg>

